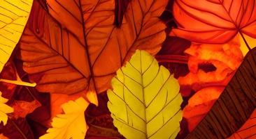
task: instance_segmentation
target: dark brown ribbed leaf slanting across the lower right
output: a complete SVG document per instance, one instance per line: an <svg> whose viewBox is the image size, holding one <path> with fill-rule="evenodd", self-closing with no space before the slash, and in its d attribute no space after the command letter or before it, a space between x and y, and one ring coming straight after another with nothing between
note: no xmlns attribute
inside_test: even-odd
<svg viewBox="0 0 256 139"><path fill-rule="evenodd" d="M256 106L255 50L248 52L211 111L187 138L227 138L248 120Z"/></svg>

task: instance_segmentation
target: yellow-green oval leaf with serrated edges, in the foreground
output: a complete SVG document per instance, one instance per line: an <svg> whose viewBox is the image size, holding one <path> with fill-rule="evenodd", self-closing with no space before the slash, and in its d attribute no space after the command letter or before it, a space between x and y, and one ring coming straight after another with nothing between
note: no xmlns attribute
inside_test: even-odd
<svg viewBox="0 0 256 139"><path fill-rule="evenodd" d="M183 99L178 81L145 51L137 50L112 79L108 108L125 138L176 138Z"/></svg>

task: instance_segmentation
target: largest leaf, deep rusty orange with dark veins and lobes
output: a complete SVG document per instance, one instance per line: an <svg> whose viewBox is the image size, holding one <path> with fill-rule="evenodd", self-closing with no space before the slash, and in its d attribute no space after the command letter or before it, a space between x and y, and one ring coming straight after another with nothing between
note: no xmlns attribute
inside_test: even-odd
<svg viewBox="0 0 256 139"><path fill-rule="evenodd" d="M20 40L23 68L40 92L103 92L136 49L159 51L166 3L132 0L118 28L114 0L48 0L49 12L35 1Z"/></svg>

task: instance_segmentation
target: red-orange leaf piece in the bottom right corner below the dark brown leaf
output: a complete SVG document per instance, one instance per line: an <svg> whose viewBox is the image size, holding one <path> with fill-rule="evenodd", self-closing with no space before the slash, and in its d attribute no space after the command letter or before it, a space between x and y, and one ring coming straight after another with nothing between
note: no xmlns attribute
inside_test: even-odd
<svg viewBox="0 0 256 139"><path fill-rule="evenodd" d="M253 139L256 136L256 109L253 111L252 115L248 118L245 124L241 126L239 131L233 133L227 139L236 139L236 138L250 138Z"/></svg>

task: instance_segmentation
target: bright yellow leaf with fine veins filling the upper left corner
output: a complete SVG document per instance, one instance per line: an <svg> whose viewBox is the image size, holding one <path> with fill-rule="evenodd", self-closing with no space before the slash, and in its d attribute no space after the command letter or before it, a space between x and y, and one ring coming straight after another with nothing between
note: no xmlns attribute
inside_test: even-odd
<svg viewBox="0 0 256 139"><path fill-rule="evenodd" d="M0 0L0 72L20 40L32 3L33 0Z"/></svg>

